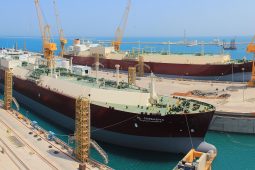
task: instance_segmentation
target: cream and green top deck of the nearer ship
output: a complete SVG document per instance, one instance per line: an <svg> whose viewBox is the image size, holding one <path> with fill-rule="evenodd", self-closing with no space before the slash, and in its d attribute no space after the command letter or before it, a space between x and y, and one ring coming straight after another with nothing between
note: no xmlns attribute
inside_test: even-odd
<svg viewBox="0 0 255 170"><path fill-rule="evenodd" d="M38 80L40 86L74 98L80 95L88 96L92 104L106 108L111 107L119 111L166 116L168 114L206 113L214 110L212 105L206 103L186 100L181 97L175 98L165 94L159 95L155 104L150 104L150 93L146 88L129 86L124 80L121 82L121 86L117 87L114 80L105 79L104 83L96 83L94 77L66 73L52 78L46 75L47 72L43 69L28 71L26 66L14 69L14 75L17 77ZM100 77L100 79L102 78Z"/></svg>

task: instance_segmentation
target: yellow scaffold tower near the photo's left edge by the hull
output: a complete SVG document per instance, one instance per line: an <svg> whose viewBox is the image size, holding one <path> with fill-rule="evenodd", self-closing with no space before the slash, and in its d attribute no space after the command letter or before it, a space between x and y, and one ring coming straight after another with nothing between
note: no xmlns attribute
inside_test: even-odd
<svg viewBox="0 0 255 170"><path fill-rule="evenodd" d="M10 110L12 103L12 71L11 69L5 70L4 81L4 109Z"/></svg>

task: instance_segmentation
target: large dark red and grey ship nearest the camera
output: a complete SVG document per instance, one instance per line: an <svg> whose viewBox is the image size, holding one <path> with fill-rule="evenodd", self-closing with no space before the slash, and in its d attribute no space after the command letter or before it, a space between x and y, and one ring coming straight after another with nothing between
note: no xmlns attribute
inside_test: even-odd
<svg viewBox="0 0 255 170"><path fill-rule="evenodd" d="M126 82L90 77L89 67L73 66L57 59L48 69L40 56L1 58L1 88L4 69L13 68L14 96L51 121L74 129L75 101L79 96L91 101L92 138L138 149L186 153L192 146L199 151L216 150L204 141L214 106L161 96L150 89Z"/></svg>

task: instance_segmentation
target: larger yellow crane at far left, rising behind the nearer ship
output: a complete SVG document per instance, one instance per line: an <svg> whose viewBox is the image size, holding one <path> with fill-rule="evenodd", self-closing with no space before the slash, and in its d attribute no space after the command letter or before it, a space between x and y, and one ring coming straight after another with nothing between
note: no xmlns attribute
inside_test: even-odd
<svg viewBox="0 0 255 170"><path fill-rule="evenodd" d="M44 58L47 60L47 66L52 68L54 65L54 51L57 50L57 46L51 41L50 26L44 23L43 12L39 4L39 0L34 0L34 2L39 22L39 28L42 35Z"/></svg>

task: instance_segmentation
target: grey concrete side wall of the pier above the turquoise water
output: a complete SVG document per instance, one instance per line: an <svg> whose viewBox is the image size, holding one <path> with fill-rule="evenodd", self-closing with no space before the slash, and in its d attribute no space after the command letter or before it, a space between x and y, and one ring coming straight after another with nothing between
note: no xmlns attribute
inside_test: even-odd
<svg viewBox="0 0 255 170"><path fill-rule="evenodd" d="M255 114L216 112L209 130L255 134Z"/></svg>

